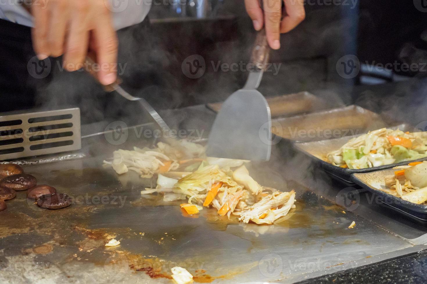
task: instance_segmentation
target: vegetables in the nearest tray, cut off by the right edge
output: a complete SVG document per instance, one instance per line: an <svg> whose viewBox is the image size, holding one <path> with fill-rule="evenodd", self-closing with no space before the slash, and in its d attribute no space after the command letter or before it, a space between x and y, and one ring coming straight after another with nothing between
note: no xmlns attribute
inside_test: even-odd
<svg viewBox="0 0 427 284"><path fill-rule="evenodd" d="M397 166L395 174L386 176L385 183L389 189L381 189L403 200L427 204L427 161L413 162L407 166Z"/></svg>

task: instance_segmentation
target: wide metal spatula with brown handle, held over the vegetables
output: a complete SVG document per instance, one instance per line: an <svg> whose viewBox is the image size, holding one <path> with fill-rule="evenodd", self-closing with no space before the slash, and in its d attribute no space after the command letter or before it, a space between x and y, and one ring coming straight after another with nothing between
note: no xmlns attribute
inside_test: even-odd
<svg viewBox="0 0 427 284"><path fill-rule="evenodd" d="M258 92L269 59L265 30L257 34L249 72L243 89L222 104L209 134L206 154L216 158L268 161L271 154L271 116L264 96Z"/></svg>

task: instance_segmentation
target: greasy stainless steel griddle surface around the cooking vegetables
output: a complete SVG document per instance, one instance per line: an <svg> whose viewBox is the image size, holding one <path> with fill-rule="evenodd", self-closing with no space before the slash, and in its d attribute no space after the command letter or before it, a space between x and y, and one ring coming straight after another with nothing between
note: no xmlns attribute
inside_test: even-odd
<svg viewBox="0 0 427 284"><path fill-rule="evenodd" d="M142 198L140 190L155 181L104 168L102 160L119 146L98 139L86 158L24 168L38 184L56 187L75 203L39 209L26 192L8 201L0 212L0 282L173 283L170 268L178 265L195 282L291 283L425 248L413 241L422 238L423 226L394 220L395 213L375 204L362 200L354 212L343 213L328 201L342 186L316 172L304 155L285 159L277 150L272 161L249 166L261 184L295 189L298 198L289 219L257 226L219 217L213 209L188 216L180 202ZM129 138L120 148L136 141L151 142ZM348 229L352 221L356 227ZM121 244L105 247L113 237Z"/></svg>

